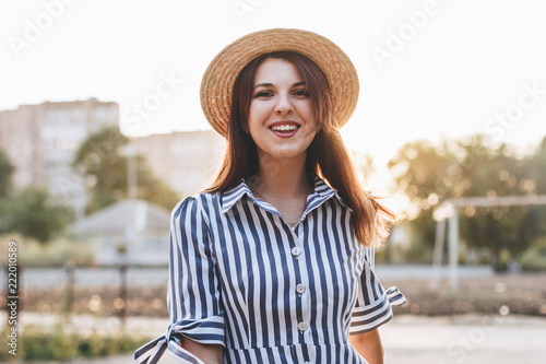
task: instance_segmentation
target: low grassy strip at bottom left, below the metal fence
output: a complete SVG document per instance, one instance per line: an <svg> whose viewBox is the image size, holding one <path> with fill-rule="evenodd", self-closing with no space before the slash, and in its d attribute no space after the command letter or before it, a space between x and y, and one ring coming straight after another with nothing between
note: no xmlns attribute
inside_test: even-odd
<svg viewBox="0 0 546 364"><path fill-rule="evenodd" d="M4 329L5 330L5 329ZM2 332L4 337L5 331ZM136 337L127 332L116 334L81 334L68 331L62 324L54 330L40 325L27 325L17 332L17 357L25 361L70 361L116 355L134 351L146 343L149 338ZM7 347L7 345L2 345ZM12 359L10 348L0 350L0 360Z"/></svg>

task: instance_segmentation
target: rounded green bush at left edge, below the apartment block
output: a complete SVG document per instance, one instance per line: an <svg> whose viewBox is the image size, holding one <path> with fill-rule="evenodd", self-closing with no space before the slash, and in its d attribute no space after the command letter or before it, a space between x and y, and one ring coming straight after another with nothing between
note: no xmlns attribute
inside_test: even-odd
<svg viewBox="0 0 546 364"><path fill-rule="evenodd" d="M44 188L29 186L0 200L0 234L20 233L47 243L70 219L70 209L52 203Z"/></svg>

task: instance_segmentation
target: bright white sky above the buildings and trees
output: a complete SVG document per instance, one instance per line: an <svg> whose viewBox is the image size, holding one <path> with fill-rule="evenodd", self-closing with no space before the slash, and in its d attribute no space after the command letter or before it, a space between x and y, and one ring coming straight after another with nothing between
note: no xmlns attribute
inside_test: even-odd
<svg viewBox="0 0 546 364"><path fill-rule="evenodd" d="M250 32L297 27L353 60L342 134L384 165L419 139L546 137L544 0L25 0L0 2L0 110L97 97L130 136L209 129L201 77Z"/></svg>

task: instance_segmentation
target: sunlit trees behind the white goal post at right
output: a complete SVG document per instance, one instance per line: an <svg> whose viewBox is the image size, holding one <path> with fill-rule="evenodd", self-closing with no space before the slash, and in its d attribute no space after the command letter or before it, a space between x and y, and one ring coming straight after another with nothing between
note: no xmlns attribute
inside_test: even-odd
<svg viewBox="0 0 546 364"><path fill-rule="evenodd" d="M416 251L432 248L434 210L461 197L539 193L546 180L546 139L534 155L518 156L508 145L488 146L483 136L431 144L404 145L389 166L399 188L413 203L411 235ZM544 193L544 191L542 191ZM501 268L501 253L514 258L546 226L544 208L499 207L460 209L460 234L471 248L487 247L492 265ZM506 259L505 259L506 260Z"/></svg>

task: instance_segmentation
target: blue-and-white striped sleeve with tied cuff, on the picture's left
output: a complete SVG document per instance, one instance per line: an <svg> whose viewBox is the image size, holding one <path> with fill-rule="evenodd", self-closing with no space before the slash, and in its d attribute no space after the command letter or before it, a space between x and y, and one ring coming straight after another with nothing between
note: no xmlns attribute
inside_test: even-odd
<svg viewBox="0 0 546 364"><path fill-rule="evenodd" d="M156 363L167 349L182 363L202 363L178 344L181 337L225 347L216 258L195 198L187 198L173 210L167 306L171 321L167 333L140 348L136 363Z"/></svg>

